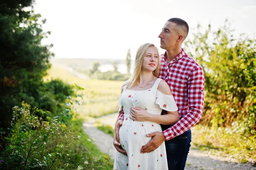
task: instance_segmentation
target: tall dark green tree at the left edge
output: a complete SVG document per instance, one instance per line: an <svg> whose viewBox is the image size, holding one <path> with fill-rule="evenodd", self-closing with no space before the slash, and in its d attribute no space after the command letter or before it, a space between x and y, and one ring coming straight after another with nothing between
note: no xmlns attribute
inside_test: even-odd
<svg viewBox="0 0 256 170"><path fill-rule="evenodd" d="M41 108L43 77L54 56L49 51L52 45L41 45L50 32L43 32L41 15L29 10L34 1L4 1L0 4L0 127L8 126L12 107L23 100Z"/></svg>

